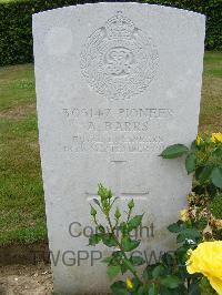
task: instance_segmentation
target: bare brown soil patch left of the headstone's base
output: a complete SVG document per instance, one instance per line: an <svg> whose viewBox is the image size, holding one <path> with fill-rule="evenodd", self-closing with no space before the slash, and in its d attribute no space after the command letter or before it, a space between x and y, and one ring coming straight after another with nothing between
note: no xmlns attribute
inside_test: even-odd
<svg viewBox="0 0 222 295"><path fill-rule="evenodd" d="M0 295L51 295L49 264L0 266Z"/></svg>

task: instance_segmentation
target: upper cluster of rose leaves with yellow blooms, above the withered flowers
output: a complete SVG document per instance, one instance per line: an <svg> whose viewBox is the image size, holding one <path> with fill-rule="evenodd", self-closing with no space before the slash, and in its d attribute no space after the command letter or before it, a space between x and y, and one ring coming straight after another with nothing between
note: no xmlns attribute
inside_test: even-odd
<svg viewBox="0 0 222 295"><path fill-rule="evenodd" d="M188 174L194 173L195 193L215 196L222 189L222 141L221 133L213 133L211 138L198 136L188 148L184 144L168 146L162 153L163 159L185 156Z"/></svg>

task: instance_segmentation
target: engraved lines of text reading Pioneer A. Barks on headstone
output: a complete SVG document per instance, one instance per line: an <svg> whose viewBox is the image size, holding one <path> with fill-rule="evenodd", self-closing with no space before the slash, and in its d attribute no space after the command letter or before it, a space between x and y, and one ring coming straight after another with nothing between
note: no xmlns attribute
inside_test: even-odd
<svg viewBox="0 0 222 295"><path fill-rule="evenodd" d="M73 133L63 146L70 153L149 153L161 151L164 139L152 134L154 124L172 120L172 109L63 108L64 121Z"/></svg>

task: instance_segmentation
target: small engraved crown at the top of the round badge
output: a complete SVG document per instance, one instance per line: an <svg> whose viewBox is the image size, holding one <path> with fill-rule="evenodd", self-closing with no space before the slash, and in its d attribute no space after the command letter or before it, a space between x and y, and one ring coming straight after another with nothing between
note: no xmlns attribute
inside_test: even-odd
<svg viewBox="0 0 222 295"><path fill-rule="evenodd" d="M105 30L109 39L130 39L134 31L134 23L118 11L114 17L105 23Z"/></svg>

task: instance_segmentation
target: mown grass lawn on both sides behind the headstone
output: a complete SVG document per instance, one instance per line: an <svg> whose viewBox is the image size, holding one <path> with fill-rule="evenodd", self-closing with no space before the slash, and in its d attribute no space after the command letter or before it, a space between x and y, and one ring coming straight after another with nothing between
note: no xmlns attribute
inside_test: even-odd
<svg viewBox="0 0 222 295"><path fill-rule="evenodd" d="M222 131L221 93L222 52L206 52L200 132ZM0 68L0 245L46 241L33 64Z"/></svg>

